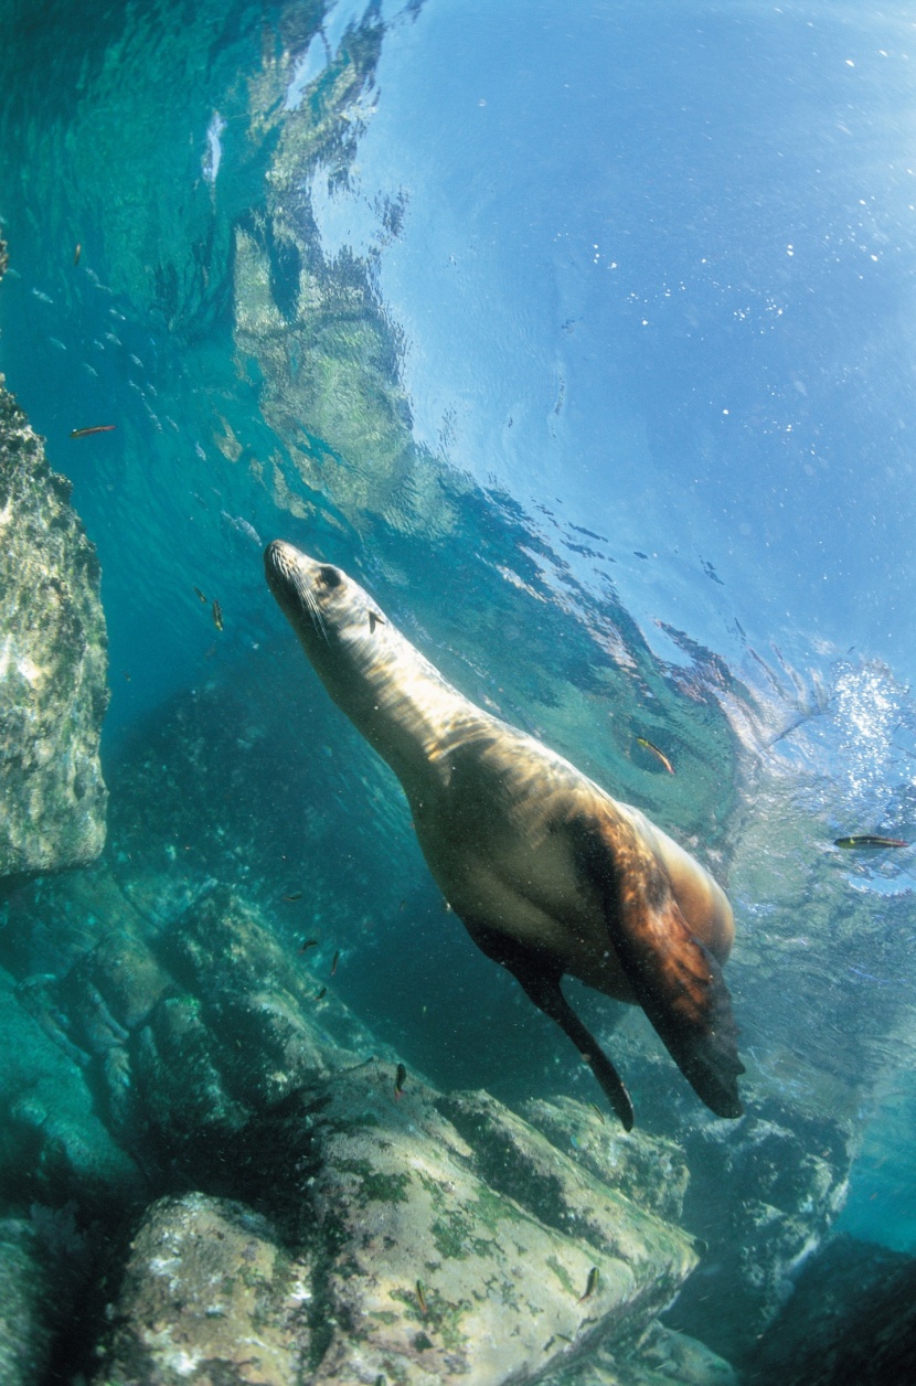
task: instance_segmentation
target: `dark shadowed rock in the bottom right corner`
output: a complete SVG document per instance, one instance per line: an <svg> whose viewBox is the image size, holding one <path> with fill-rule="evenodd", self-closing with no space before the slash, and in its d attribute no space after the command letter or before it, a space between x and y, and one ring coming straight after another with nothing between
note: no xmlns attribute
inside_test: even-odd
<svg viewBox="0 0 916 1386"><path fill-rule="evenodd" d="M916 1380L916 1258L838 1236L805 1261L759 1342L748 1386Z"/></svg>

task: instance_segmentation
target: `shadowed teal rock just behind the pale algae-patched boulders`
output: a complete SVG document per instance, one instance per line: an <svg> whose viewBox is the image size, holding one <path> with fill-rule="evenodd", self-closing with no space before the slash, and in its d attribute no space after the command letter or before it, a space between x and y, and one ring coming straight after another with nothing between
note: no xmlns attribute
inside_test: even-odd
<svg viewBox="0 0 916 1386"><path fill-rule="evenodd" d="M240 1159L249 1123L376 1048L229 887L169 924L157 956L172 985L136 1035L133 1076L144 1139L188 1178Z"/></svg>

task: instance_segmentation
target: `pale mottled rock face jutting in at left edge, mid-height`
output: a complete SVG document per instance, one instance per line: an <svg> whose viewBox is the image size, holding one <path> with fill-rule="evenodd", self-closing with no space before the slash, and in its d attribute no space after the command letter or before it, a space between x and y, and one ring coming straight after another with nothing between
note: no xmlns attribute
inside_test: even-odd
<svg viewBox="0 0 916 1386"><path fill-rule="evenodd" d="M85 865L105 841L105 621L69 495L0 378L0 877Z"/></svg>

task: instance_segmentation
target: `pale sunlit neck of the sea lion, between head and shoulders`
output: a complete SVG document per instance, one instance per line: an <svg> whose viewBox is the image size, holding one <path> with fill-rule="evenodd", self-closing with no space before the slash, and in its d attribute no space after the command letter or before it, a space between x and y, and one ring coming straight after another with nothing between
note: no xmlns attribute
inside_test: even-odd
<svg viewBox="0 0 916 1386"><path fill-rule="evenodd" d="M306 653L337 705L409 797L445 773L449 750L496 722L388 624L374 633L344 633L326 649L310 640Z"/></svg>

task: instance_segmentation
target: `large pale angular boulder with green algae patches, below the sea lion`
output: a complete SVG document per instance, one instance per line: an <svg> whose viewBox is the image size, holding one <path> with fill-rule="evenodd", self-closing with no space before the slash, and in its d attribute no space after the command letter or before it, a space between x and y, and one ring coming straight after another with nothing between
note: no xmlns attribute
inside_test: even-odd
<svg viewBox="0 0 916 1386"><path fill-rule="evenodd" d="M367 1064L313 1130L333 1253L316 1383L527 1380L637 1332L696 1261L678 1228L486 1094L446 1099L413 1080L398 1099L391 1070Z"/></svg>

